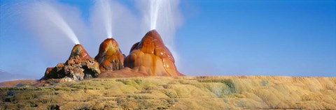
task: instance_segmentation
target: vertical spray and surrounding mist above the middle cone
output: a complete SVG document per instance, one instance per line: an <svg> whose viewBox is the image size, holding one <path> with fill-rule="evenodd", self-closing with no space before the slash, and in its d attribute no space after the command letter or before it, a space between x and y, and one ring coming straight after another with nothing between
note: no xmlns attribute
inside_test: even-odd
<svg viewBox="0 0 336 110"><path fill-rule="evenodd" d="M110 9L103 10L104 6L108 6ZM106 15L111 17L111 19L103 18ZM140 33L140 30L144 29L144 26L140 26L139 23L141 22L141 17L137 16L132 8L125 6L120 1L97 0L90 11L90 28L92 36L94 36L94 39L90 42L95 42L95 44L99 45L106 39L106 35L112 32L112 36L107 36L118 42L123 53L128 53L134 42L139 42L144 36ZM95 51L97 51L97 47L94 48Z"/></svg>

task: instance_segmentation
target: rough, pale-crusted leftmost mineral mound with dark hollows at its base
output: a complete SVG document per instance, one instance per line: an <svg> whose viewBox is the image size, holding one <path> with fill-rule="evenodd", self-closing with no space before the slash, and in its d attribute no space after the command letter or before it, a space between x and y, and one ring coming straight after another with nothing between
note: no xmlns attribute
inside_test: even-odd
<svg viewBox="0 0 336 110"><path fill-rule="evenodd" d="M99 64L91 58L82 45L75 45L69 59L55 68L47 68L43 80L61 79L61 81L79 81L98 77Z"/></svg>

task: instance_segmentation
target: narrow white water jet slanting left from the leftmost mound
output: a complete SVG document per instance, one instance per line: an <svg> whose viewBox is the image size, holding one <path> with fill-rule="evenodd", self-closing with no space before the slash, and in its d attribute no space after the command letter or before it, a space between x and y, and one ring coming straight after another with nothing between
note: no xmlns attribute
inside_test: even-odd
<svg viewBox="0 0 336 110"><path fill-rule="evenodd" d="M36 9L40 15L46 17L45 19L50 20L50 24L53 24L62 31L74 44L80 44L76 34L70 28L70 26L65 22L62 16L52 7L48 2L34 3L33 8Z"/></svg>

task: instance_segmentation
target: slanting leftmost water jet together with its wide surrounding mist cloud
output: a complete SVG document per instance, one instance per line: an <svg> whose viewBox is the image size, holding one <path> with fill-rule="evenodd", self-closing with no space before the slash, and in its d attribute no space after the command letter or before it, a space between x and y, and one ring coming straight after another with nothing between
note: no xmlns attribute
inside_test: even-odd
<svg viewBox="0 0 336 110"><path fill-rule="evenodd" d="M69 57L73 45L87 45L90 32L78 7L58 1L22 2L13 10L21 10L18 13L22 21L20 26L27 31L28 36L41 43L38 44L39 48L44 49L52 59L46 61L58 63Z"/></svg>

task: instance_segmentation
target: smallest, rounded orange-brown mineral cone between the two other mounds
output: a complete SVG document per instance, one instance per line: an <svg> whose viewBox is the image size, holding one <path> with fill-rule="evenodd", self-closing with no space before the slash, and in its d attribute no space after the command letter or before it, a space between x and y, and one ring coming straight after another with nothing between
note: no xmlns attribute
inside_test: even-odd
<svg viewBox="0 0 336 110"><path fill-rule="evenodd" d="M94 59L99 63L102 72L108 70L120 70L124 68L123 52L120 51L118 42L108 38L99 47L99 53Z"/></svg>

